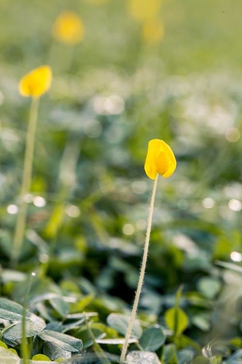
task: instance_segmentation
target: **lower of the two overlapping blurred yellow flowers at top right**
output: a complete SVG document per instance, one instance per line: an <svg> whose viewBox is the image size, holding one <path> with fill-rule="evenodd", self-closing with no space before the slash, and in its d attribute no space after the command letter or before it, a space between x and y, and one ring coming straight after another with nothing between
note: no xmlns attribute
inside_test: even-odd
<svg viewBox="0 0 242 364"><path fill-rule="evenodd" d="M161 19L149 19L143 24L143 40L148 44L159 43L164 35L164 23Z"/></svg>

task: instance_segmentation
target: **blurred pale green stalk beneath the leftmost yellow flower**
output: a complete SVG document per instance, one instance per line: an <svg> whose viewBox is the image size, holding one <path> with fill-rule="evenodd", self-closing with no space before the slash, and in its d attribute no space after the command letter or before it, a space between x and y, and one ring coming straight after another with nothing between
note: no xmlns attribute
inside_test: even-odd
<svg viewBox="0 0 242 364"><path fill-rule="evenodd" d="M11 265L16 265L23 244L26 227L27 203L24 201L25 195L30 191L31 174L33 164L33 152L35 142L35 132L38 116L39 98L32 98L30 106L30 117L26 139L26 149L24 157L24 171L21 186L20 204L15 226L15 235L12 248Z"/></svg>

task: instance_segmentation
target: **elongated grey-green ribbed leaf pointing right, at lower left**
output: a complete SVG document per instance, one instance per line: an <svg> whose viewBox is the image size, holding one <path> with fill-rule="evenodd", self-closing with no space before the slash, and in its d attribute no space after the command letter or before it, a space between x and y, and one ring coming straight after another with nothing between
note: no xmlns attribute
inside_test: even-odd
<svg viewBox="0 0 242 364"><path fill-rule="evenodd" d="M54 343L63 350L76 352L82 349L82 341L76 337L52 330L43 330L38 336L47 342Z"/></svg>

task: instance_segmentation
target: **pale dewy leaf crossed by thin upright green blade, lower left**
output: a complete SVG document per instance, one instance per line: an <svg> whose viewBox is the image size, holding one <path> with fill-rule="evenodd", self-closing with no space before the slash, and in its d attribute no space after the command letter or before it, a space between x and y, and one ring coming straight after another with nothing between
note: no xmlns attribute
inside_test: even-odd
<svg viewBox="0 0 242 364"><path fill-rule="evenodd" d="M34 315L35 316L35 315ZM35 316L37 317L37 316ZM37 335L45 329L45 321L38 317L38 320L27 321L25 324L26 337L31 337ZM15 341L21 339L22 337L22 322L15 325L10 325L4 329L3 337L4 339Z"/></svg>

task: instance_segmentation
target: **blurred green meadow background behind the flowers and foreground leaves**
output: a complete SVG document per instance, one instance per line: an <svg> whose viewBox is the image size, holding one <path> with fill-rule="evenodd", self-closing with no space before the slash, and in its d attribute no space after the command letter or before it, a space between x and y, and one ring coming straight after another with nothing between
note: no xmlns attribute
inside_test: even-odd
<svg viewBox="0 0 242 364"><path fill-rule="evenodd" d="M0 263L9 268L30 105L18 82L48 64L17 269L131 304L152 189L143 165L148 141L163 139L177 170L159 178L141 310L162 315L183 284L194 339L239 336L242 3L164 0L157 42L130 3L0 0ZM52 36L64 10L82 20L78 44Z"/></svg>

